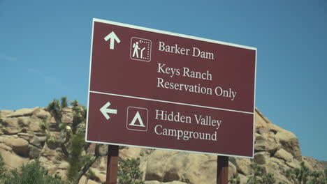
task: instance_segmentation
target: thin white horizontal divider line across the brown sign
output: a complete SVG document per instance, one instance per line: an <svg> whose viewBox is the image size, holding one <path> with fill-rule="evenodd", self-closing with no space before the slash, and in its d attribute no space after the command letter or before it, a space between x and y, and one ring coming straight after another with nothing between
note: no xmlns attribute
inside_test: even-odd
<svg viewBox="0 0 327 184"><path fill-rule="evenodd" d="M139 99L139 100L149 100L149 101L154 101L154 102L164 102L164 103L177 104L177 105L187 105L187 106L202 107L202 108L207 108L207 109L217 109L217 110L228 111L228 112L239 112L239 113L244 113L244 114L254 114L254 112L242 112L242 111L237 111L237 110L232 110L232 109L223 109L223 108L209 107L209 106L203 106L203 105L193 105L193 104L187 104L187 103L181 103L181 102L171 102L171 101L166 101L166 100L156 100L156 99L151 99L151 98L141 98L141 97L129 96L129 95L119 95L119 94L114 94L114 93L103 93L103 92L99 92L99 91L89 91L89 93L98 93L98 94L103 94L103 95L114 95L114 96L120 96L120 97L125 97L125 98L135 98L135 99Z"/></svg>

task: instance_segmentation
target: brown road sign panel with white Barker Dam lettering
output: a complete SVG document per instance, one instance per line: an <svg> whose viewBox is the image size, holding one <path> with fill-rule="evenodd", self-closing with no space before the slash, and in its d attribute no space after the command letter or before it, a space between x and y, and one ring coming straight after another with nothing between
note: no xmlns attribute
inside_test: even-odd
<svg viewBox="0 0 327 184"><path fill-rule="evenodd" d="M93 20L86 139L254 154L256 48Z"/></svg>

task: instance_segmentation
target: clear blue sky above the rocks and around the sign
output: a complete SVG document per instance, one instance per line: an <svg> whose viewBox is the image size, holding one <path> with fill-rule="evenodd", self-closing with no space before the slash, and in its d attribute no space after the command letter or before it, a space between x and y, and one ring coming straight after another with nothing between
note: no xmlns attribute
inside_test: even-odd
<svg viewBox="0 0 327 184"><path fill-rule="evenodd" d="M92 18L258 48L256 107L327 160L327 3L0 0L0 109L87 105Z"/></svg>

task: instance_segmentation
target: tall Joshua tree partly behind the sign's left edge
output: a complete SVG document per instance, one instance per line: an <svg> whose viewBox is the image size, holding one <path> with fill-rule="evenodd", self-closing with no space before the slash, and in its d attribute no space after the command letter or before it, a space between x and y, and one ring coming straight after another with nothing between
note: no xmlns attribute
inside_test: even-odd
<svg viewBox="0 0 327 184"><path fill-rule="evenodd" d="M57 130L60 131L59 145L69 163L67 179L72 184L78 184L80 178L99 158L101 144L96 144L96 151L93 155L87 154L87 149L90 145L85 142L87 109L80 105L78 100L71 102L73 107L73 123L61 123L64 108L68 106L67 101L66 97L61 98L61 102L54 99L48 105L47 110L54 117L57 123Z"/></svg>

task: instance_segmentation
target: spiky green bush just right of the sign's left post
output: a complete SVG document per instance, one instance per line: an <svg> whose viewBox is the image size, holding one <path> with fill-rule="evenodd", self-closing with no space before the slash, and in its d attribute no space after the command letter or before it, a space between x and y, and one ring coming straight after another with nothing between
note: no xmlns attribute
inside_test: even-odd
<svg viewBox="0 0 327 184"><path fill-rule="evenodd" d="M142 171L138 165L140 160L119 159L118 181L119 184L144 184L142 181Z"/></svg>

